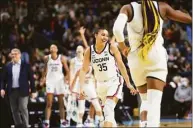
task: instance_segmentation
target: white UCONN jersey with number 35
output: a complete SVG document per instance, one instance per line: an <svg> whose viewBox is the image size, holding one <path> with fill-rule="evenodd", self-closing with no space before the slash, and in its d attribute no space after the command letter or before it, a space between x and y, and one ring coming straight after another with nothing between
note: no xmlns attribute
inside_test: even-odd
<svg viewBox="0 0 193 128"><path fill-rule="evenodd" d="M91 45L91 65L94 69L94 75L97 81L108 81L119 75L115 58L110 53L110 44L106 43L103 51L97 53L95 45Z"/></svg>

